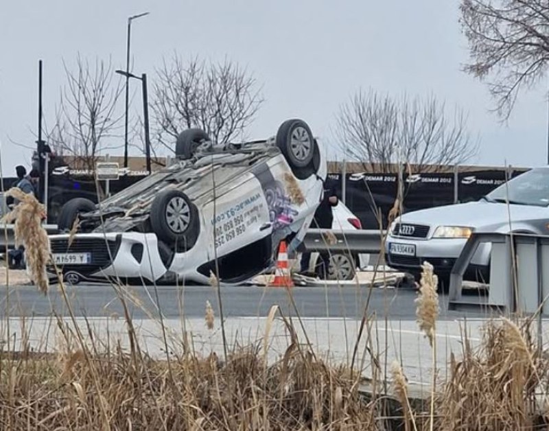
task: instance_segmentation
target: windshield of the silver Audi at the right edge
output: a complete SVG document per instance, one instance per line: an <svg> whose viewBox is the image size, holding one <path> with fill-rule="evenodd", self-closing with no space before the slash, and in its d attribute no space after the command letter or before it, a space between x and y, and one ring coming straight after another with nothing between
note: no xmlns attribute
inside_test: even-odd
<svg viewBox="0 0 549 431"><path fill-rule="evenodd" d="M491 191L485 200L547 207L549 205L549 169L540 167L520 174Z"/></svg>

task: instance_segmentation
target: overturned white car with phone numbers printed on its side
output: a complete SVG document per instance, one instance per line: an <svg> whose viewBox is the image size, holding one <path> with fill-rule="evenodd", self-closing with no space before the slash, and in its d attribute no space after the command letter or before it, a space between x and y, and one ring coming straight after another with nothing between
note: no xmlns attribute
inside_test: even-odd
<svg viewBox="0 0 549 431"><path fill-rule="evenodd" d="M119 277L240 283L270 268L279 243L303 240L323 194L323 152L300 119L276 137L213 145L202 130L176 142L176 163L98 205L70 200L50 236L65 281ZM49 268L54 274L54 266Z"/></svg>

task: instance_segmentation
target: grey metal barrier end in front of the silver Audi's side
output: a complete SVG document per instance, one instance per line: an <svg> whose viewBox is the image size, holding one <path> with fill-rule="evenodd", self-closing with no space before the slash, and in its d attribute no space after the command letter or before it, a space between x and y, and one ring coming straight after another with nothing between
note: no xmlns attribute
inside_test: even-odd
<svg viewBox="0 0 549 431"><path fill-rule="evenodd" d="M491 244L487 295L463 296L463 275L480 244ZM545 265L544 265L545 262ZM520 312L549 316L549 236L474 233L450 275L449 310Z"/></svg>

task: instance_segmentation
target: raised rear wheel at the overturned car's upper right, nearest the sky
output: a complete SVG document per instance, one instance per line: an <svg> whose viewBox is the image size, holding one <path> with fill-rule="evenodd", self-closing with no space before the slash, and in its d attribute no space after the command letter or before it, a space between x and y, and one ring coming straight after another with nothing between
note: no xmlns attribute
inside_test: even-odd
<svg viewBox="0 0 549 431"><path fill-rule="evenodd" d="M276 143L292 170L301 170L312 165L318 145L305 121L284 121L277 132Z"/></svg>

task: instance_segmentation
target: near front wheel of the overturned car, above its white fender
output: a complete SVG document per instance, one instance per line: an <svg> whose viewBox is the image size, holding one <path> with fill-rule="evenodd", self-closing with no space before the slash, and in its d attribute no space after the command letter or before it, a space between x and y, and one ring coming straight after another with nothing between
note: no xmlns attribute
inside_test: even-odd
<svg viewBox="0 0 549 431"><path fill-rule="evenodd" d="M192 248L200 233L198 209L180 190L165 190L154 198L150 224L159 240L178 252Z"/></svg>

